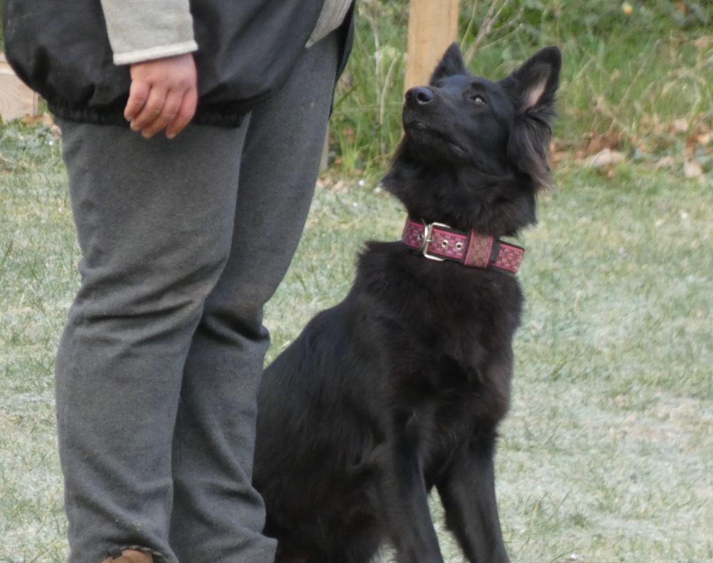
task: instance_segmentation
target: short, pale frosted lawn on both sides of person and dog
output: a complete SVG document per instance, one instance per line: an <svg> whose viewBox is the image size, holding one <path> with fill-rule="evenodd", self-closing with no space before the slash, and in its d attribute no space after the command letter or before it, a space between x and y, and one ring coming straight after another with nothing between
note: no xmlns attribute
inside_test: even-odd
<svg viewBox="0 0 713 563"><path fill-rule="evenodd" d="M78 250L53 138L25 128L10 137L0 173L0 562L57 562L66 523L51 371ZM515 562L713 561L713 186L646 163L612 173L562 163L540 224L520 240L528 305L498 453L504 532ZM270 357L344 296L364 240L398 237L399 204L362 183L318 189L268 310Z"/></svg>

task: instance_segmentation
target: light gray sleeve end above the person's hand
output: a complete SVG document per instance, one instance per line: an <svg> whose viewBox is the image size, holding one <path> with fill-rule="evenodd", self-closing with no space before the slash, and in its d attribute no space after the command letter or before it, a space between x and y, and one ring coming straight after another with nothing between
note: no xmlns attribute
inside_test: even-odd
<svg viewBox="0 0 713 563"><path fill-rule="evenodd" d="M114 64L198 50L189 0L101 0Z"/></svg>

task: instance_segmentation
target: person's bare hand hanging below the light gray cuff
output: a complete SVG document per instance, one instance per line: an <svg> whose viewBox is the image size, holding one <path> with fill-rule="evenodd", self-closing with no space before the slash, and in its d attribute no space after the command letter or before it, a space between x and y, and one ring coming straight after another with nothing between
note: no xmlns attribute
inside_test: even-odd
<svg viewBox="0 0 713 563"><path fill-rule="evenodd" d="M124 117L145 138L165 128L173 138L188 125L198 104L198 73L193 55L165 57L131 65L131 87Z"/></svg>

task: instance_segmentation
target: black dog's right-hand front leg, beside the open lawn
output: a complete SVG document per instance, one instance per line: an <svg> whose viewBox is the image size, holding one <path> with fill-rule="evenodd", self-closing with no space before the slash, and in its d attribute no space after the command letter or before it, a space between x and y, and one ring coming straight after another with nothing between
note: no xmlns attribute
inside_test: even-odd
<svg viewBox="0 0 713 563"><path fill-rule="evenodd" d="M471 563L508 563L495 494L496 433L473 437L436 483L446 524Z"/></svg>

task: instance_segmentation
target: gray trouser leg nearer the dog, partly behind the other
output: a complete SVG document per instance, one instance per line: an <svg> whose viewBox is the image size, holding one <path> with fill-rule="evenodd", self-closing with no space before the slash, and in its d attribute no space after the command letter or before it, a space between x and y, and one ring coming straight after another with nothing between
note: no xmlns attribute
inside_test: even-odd
<svg viewBox="0 0 713 563"><path fill-rule="evenodd" d="M171 543L190 563L272 562L252 488L257 388L269 344L262 308L307 218L337 71L336 34L307 50L279 93L252 111L230 258L186 362L173 439Z"/></svg>

